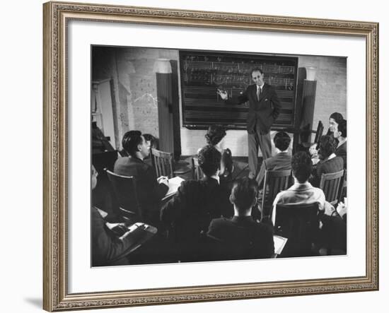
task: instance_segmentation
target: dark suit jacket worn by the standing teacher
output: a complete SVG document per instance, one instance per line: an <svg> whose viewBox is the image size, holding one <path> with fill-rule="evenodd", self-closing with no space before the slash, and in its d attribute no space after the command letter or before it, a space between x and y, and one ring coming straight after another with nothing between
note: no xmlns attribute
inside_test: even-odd
<svg viewBox="0 0 389 313"><path fill-rule="evenodd" d="M257 85L249 85L238 98L226 100L230 104L249 102L247 130L250 134L259 129L261 134L267 134L274 120L279 116L281 103L274 87L265 83L262 87L260 100L257 100Z"/></svg>

